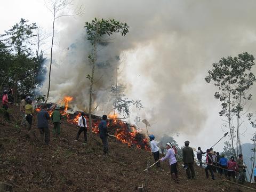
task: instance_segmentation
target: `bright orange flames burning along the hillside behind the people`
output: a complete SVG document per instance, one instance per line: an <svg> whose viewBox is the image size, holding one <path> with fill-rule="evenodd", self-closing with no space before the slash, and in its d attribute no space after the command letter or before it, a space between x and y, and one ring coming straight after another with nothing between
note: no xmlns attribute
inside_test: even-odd
<svg viewBox="0 0 256 192"><path fill-rule="evenodd" d="M81 111L72 111L70 113L70 110L68 110L68 103L73 100L73 97L64 97L63 100L61 100L60 105L63 107L60 107L60 113L63 118L66 119L66 121L70 124L77 124L78 118L81 115ZM49 109L48 112L50 116L52 115L55 107L57 106L56 103L47 103L47 108ZM37 106L36 111L40 111L40 106ZM85 113L85 118L87 122L89 122L89 114ZM92 115L92 131L94 133L99 133L98 125L101 121L101 117ZM137 146L140 149L150 150L148 138L140 133L137 130L137 127L134 125L131 125L129 123L126 123L124 121L121 121L117 118L117 115L109 115L108 119L108 131L111 134L114 134L114 137L121 141L122 143L127 143L127 145L130 146Z"/></svg>

